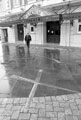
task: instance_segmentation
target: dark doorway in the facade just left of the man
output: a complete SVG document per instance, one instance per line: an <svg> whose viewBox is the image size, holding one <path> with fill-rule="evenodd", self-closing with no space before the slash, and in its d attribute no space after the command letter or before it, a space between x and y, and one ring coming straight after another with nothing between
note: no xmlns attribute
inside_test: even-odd
<svg viewBox="0 0 81 120"><path fill-rule="evenodd" d="M24 28L23 24L17 25L17 31L18 31L18 40L23 41L24 39Z"/></svg>

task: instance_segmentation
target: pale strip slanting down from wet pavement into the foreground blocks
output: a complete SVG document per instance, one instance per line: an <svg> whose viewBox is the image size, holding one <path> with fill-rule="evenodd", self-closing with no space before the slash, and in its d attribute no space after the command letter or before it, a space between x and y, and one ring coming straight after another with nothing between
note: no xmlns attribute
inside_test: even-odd
<svg viewBox="0 0 81 120"><path fill-rule="evenodd" d="M43 70L39 70L38 73L37 73L37 77L35 79L37 83L34 83L33 88L32 88L32 90L31 90L31 92L29 94L29 97L28 97L28 102L27 102L27 104L24 107L24 111L25 111L25 108L26 108L26 112L29 110L30 104L32 102L32 99L33 99L33 97L35 95L35 92L37 90L37 87L38 87L38 82L41 79L42 72L43 72Z"/></svg>

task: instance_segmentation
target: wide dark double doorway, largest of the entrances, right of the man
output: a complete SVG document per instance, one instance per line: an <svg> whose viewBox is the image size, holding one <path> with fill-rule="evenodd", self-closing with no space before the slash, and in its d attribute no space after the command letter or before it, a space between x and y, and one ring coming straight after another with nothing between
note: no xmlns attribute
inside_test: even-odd
<svg viewBox="0 0 81 120"><path fill-rule="evenodd" d="M47 22L47 43L60 43L59 21Z"/></svg>

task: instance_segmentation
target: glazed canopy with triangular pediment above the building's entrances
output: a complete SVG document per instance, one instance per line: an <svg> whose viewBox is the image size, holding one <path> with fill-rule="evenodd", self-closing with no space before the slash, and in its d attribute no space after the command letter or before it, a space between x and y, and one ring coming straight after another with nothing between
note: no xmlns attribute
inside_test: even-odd
<svg viewBox="0 0 81 120"><path fill-rule="evenodd" d="M60 21L81 19L81 2L65 2L54 6L39 7L32 5L24 13L7 16L0 19L1 27L8 27L13 24L38 23L45 21Z"/></svg>

